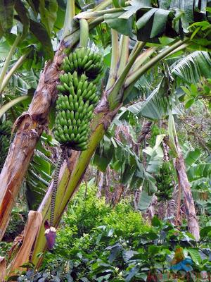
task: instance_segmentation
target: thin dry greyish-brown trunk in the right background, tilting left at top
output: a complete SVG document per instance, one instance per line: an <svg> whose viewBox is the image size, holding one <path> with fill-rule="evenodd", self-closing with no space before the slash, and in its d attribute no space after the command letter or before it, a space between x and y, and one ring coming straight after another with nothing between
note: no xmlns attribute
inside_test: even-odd
<svg viewBox="0 0 211 282"><path fill-rule="evenodd" d="M193 201L193 195L191 192L191 186L188 182L188 176L186 174L186 166L184 164L184 157L181 153L181 148L177 136L175 137L175 144L177 146L178 157L175 161L175 168L177 170L178 184L181 187L181 191L184 193L184 205L186 209L188 230L194 235L196 240L199 240L199 226L196 216L195 204ZM178 207L179 208L179 207Z"/></svg>

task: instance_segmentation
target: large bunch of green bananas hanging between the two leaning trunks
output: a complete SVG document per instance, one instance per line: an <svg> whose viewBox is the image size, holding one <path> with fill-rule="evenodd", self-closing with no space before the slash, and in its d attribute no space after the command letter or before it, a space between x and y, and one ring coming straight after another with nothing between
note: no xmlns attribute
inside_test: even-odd
<svg viewBox="0 0 211 282"><path fill-rule="evenodd" d="M101 54L78 48L63 60L56 101L56 140L71 149L87 149L90 122L98 102L98 81L103 73Z"/></svg>

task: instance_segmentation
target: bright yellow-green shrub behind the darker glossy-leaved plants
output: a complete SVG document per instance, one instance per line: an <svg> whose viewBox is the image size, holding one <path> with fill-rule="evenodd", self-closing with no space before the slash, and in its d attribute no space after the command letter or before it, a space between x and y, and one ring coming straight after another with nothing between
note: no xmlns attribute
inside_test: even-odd
<svg viewBox="0 0 211 282"><path fill-rule="evenodd" d="M80 188L75 200L69 205L63 216L63 223L58 229L55 252L68 256L80 240L98 235L103 228L111 230L116 236L129 237L132 233L141 233L148 229L143 224L141 214L134 212L127 200L117 204L115 209L106 204L105 199L96 198L96 188L88 190L84 198L84 185ZM89 240L92 242L93 240ZM84 244L84 242L83 242Z"/></svg>

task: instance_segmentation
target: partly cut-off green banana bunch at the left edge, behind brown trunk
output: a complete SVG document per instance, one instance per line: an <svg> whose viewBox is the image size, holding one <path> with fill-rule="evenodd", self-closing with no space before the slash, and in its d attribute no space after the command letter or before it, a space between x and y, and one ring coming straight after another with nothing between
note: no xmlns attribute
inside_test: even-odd
<svg viewBox="0 0 211 282"><path fill-rule="evenodd" d="M11 121L0 122L0 172L8 153L12 127Z"/></svg>

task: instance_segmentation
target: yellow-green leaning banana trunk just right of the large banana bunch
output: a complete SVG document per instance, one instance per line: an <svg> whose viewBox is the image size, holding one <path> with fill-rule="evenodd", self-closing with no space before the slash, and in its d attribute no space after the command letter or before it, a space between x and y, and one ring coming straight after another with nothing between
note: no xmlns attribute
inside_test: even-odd
<svg viewBox="0 0 211 282"><path fill-rule="evenodd" d="M91 125L91 136L89 138L89 148L84 152L76 152L72 151L72 155L70 157L70 167L68 168L66 162L63 164L60 170L59 184L56 195L56 204L55 204L55 219L54 226L58 226L60 222L60 218L67 206L68 202L72 198L72 195L77 191L79 184L81 183L84 173L86 171L87 166L89 165L89 161L91 159L92 154L94 153L96 147L101 141L103 135L106 133L110 122L113 120L114 116L117 114L117 111L120 109L120 104L115 111L109 111L108 102L106 95L101 99L100 104L95 109L95 117L94 121ZM44 237L44 222L49 220L50 218L50 204L51 204L51 191L52 185L51 183L49 190L47 191L44 200L41 202L39 212L42 216L42 223L39 229L39 233L34 234L34 244L33 245L25 245L23 242L22 247L25 252L31 254L28 256L27 260L31 260L33 264L37 267L41 264L41 257L37 257L38 253L44 252L46 250L46 239ZM25 230L28 229L29 226L25 226ZM31 259L30 259L31 258ZM27 262L26 260L26 262ZM11 275L11 270L13 269L13 265L17 266L18 256L13 259L10 268L7 271L7 275Z"/></svg>

